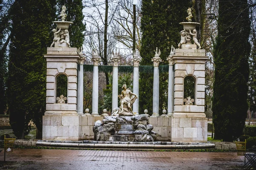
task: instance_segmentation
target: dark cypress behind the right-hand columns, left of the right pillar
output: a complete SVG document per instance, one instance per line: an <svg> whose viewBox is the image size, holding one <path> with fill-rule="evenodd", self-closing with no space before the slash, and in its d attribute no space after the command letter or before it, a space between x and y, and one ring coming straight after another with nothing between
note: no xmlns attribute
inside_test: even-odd
<svg viewBox="0 0 256 170"><path fill-rule="evenodd" d="M168 65L166 57L169 56L171 46L177 48L180 41L180 31L183 28L179 23L186 20L186 10L191 5L191 0L142 0L140 65L153 65L151 58L154 57L156 47L161 50L163 64ZM159 81L161 113L162 109L167 109L168 74L160 74ZM143 113L144 109L152 113L153 74L140 74L139 89L139 113Z"/></svg>

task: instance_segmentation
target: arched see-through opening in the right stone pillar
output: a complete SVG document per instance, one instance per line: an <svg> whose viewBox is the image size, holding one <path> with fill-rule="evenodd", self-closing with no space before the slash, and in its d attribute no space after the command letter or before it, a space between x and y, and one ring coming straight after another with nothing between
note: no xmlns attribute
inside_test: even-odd
<svg viewBox="0 0 256 170"><path fill-rule="evenodd" d="M191 99L195 100L195 78L193 76L186 76L183 85L184 99L190 96ZM183 105L185 105L185 102ZM193 105L195 105L195 102L193 102Z"/></svg>

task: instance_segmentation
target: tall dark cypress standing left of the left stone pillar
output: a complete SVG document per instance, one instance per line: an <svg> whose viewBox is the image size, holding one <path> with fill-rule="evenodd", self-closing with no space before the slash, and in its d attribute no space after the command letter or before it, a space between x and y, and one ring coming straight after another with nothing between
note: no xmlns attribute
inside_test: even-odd
<svg viewBox="0 0 256 170"><path fill-rule="evenodd" d="M46 98L46 54L55 18L52 0L16 0L10 11L12 34L7 81L10 124L18 139L29 133L30 120L42 131ZM40 137L41 134L38 133Z"/></svg>

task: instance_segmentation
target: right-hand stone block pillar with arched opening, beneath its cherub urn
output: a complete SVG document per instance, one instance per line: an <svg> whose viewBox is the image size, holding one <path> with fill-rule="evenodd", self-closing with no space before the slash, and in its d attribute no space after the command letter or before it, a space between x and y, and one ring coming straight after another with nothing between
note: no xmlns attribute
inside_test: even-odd
<svg viewBox="0 0 256 170"><path fill-rule="evenodd" d="M204 49L183 44L172 56L175 63L174 113L172 142L207 142L207 118L204 114L205 56ZM185 105L184 78L195 79L195 102Z"/></svg>

